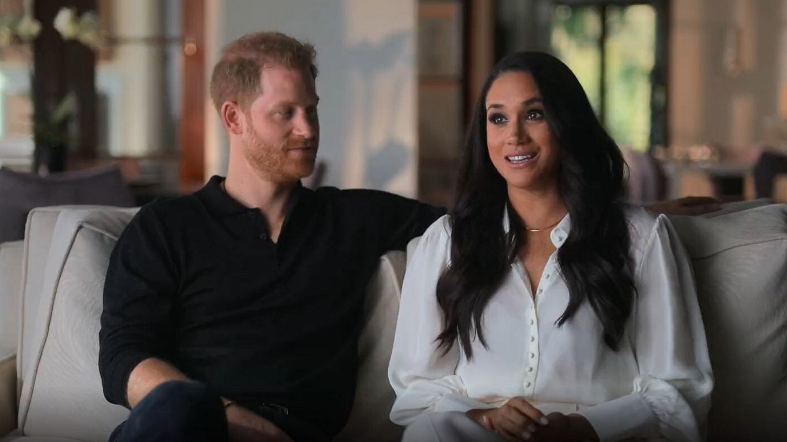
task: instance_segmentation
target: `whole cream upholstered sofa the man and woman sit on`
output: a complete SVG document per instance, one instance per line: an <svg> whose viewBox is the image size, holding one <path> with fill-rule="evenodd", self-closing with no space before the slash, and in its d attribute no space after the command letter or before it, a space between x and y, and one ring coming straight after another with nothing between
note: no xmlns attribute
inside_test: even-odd
<svg viewBox="0 0 787 442"><path fill-rule="evenodd" d="M787 205L747 205L672 218L715 370L708 439L787 440ZM126 417L102 396L98 318L109 252L134 213L37 208L24 244L0 245L0 442L103 442ZM368 287L356 403L337 440L401 435L386 368L404 268L404 252L382 256Z"/></svg>

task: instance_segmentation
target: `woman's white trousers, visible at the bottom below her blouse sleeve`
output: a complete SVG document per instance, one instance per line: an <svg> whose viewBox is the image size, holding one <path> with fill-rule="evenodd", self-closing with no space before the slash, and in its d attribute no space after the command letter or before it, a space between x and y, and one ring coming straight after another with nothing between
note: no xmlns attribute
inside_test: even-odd
<svg viewBox="0 0 787 442"><path fill-rule="evenodd" d="M424 413L405 429L402 442L506 442L460 411Z"/></svg>

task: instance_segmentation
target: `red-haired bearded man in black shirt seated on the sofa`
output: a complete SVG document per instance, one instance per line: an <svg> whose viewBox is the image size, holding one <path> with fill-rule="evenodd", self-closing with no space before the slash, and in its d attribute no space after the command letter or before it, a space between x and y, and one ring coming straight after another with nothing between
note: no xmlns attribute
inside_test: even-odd
<svg viewBox="0 0 787 442"><path fill-rule="evenodd" d="M365 285L444 211L300 186L320 138L314 55L279 33L227 46L211 79L227 179L146 205L118 240L99 365L132 411L110 440L301 442L345 424Z"/></svg>

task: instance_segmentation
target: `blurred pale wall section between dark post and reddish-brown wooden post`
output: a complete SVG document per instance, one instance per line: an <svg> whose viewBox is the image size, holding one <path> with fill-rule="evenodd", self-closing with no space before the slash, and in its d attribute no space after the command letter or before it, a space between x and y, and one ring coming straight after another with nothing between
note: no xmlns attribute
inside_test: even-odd
<svg viewBox="0 0 787 442"><path fill-rule="evenodd" d="M107 125L99 155L174 154L180 71L170 64L179 63L181 46L172 41L162 47L146 39L179 35L177 0L113 0L109 6L113 36L120 43L96 66L96 89L109 105L106 121L99 116L99 123Z"/></svg>

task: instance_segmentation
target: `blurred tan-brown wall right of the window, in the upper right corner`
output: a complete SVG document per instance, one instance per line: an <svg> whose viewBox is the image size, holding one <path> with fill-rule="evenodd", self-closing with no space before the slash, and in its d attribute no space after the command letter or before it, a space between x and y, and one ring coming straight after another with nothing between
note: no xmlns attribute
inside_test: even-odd
<svg viewBox="0 0 787 442"><path fill-rule="evenodd" d="M787 0L671 4L671 144L746 149L761 141L763 123L779 116L779 91L787 88ZM725 58L736 27L742 71L733 76Z"/></svg>

